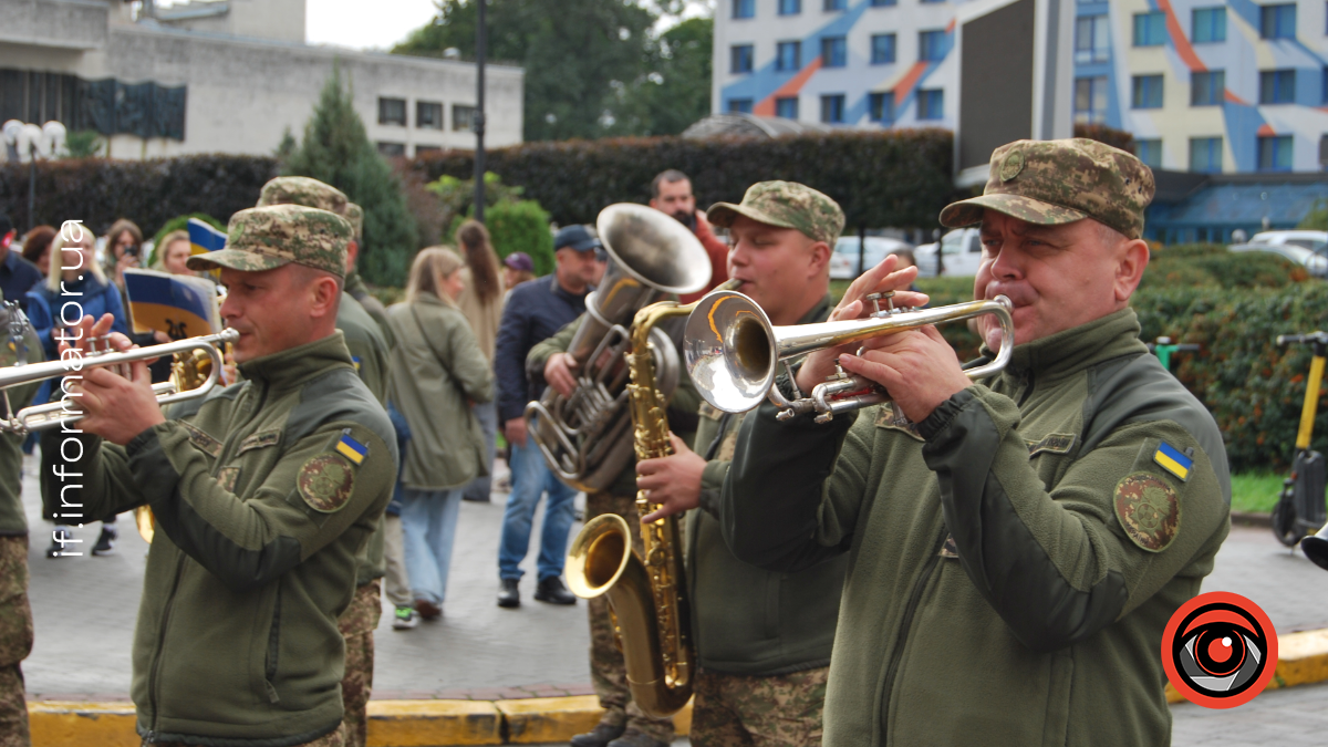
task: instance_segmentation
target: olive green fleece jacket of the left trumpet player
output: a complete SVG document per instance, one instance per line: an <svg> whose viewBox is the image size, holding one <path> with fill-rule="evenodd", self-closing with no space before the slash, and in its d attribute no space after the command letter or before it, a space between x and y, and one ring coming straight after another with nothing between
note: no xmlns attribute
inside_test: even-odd
<svg viewBox="0 0 1328 747"><path fill-rule="evenodd" d="M341 723L337 617L392 497L392 424L340 332L240 371L125 447L49 432L84 443L68 465L81 489L64 500L77 496L85 521L145 504L155 516L131 682L149 742L286 747ZM53 467L48 513L69 510L61 486L76 485Z"/></svg>

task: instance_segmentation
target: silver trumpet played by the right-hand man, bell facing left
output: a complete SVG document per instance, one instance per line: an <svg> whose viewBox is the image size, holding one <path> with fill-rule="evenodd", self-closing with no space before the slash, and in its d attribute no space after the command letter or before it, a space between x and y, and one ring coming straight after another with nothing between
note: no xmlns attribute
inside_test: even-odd
<svg viewBox="0 0 1328 747"><path fill-rule="evenodd" d="M895 308L891 296L892 291L865 296L872 312L862 319L776 327L750 298L733 291L712 292L700 300L687 320L683 339L687 371L701 397L722 412L746 412L769 397L780 408L780 420L815 412L817 423L827 423L838 413L888 401L890 393L875 381L850 375L837 366L833 376L803 396L793 375L794 358L928 324L992 314L1000 323L1000 352L991 363L965 374L977 380L1009 363L1015 322L1011 318L1013 304L1008 298L999 295L993 300L936 308ZM789 375L793 399L785 397L776 385L781 366Z"/></svg>

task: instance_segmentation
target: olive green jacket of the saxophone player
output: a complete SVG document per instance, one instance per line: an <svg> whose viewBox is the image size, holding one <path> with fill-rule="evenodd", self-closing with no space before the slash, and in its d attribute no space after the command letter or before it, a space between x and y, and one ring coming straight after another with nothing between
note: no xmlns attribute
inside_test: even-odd
<svg viewBox="0 0 1328 747"><path fill-rule="evenodd" d="M826 296L798 324L825 322L829 315ZM709 461L701 475L701 509L688 512L684 534L697 654L706 670L729 674L776 675L823 667L834 646L849 557L790 573L765 570L733 556L718 520L720 490L742 419L701 404L696 448Z"/></svg>

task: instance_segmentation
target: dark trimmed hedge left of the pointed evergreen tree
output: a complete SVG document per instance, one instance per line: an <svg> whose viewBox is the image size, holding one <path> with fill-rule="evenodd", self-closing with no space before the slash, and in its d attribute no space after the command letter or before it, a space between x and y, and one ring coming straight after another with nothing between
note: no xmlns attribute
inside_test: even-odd
<svg viewBox="0 0 1328 747"><path fill-rule="evenodd" d="M146 161L78 158L37 165L35 221L82 221L101 234L120 218L155 234L177 215L206 213L228 221L254 207L276 161L260 156L181 156ZM28 222L28 165L0 165L0 210L20 231Z"/></svg>

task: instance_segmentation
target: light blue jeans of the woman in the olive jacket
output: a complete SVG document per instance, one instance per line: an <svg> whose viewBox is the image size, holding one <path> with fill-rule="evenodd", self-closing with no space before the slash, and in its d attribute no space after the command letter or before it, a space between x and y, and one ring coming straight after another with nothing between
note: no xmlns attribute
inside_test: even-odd
<svg viewBox="0 0 1328 747"><path fill-rule="evenodd" d="M406 546L406 576L416 599L442 605L448 597L452 541L457 536L461 489L401 489L401 532Z"/></svg>

